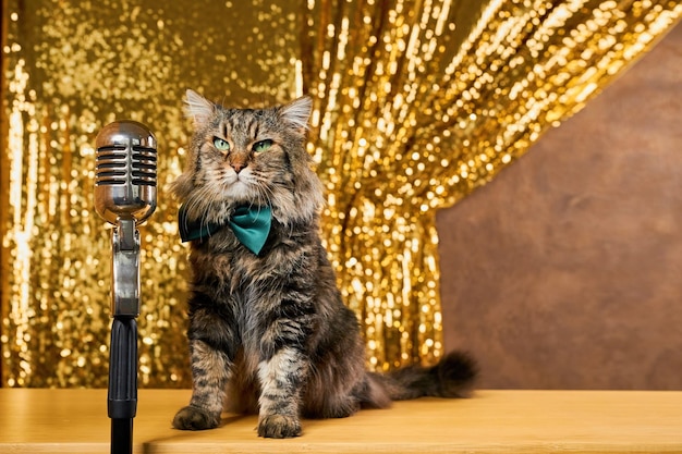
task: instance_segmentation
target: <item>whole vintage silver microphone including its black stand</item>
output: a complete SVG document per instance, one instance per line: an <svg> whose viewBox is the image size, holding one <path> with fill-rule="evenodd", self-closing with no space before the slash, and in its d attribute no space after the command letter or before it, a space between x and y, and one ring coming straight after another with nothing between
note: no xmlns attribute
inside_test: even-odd
<svg viewBox="0 0 682 454"><path fill-rule="evenodd" d="M137 412L137 225L156 209L157 142L145 125L125 120L105 126L95 143L95 210L114 225L108 413L111 453L123 454L133 452L133 418Z"/></svg>

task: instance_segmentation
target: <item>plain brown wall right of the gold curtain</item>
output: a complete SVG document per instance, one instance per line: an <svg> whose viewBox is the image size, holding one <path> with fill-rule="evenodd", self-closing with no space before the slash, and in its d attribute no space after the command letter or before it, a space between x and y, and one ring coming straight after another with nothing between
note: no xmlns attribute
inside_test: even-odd
<svg viewBox="0 0 682 454"><path fill-rule="evenodd" d="M682 390L682 24L438 228L483 388Z"/></svg>

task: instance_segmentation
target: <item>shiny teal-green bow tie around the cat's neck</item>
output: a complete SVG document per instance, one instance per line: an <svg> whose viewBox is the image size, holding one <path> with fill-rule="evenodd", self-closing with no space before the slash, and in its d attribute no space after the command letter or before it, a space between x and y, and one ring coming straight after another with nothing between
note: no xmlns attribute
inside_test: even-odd
<svg viewBox="0 0 682 454"><path fill-rule="evenodd" d="M227 223L204 222L200 219L190 221L185 206L180 207L178 223L180 225L180 237L182 242L192 240L203 240L224 228L226 224L232 229L236 238L252 253L258 255L268 234L272 221L272 210L270 207L238 207L232 218Z"/></svg>

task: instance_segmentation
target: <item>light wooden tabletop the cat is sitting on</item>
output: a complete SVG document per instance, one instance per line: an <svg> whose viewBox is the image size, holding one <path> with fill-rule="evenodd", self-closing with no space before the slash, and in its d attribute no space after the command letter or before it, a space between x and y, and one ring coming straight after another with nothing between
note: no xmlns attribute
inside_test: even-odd
<svg viewBox="0 0 682 454"><path fill-rule="evenodd" d="M173 430L190 391L141 390L134 450L160 453L682 453L682 391L479 391L345 419L304 420L303 437L265 440L255 416ZM0 453L108 453L106 390L0 389Z"/></svg>

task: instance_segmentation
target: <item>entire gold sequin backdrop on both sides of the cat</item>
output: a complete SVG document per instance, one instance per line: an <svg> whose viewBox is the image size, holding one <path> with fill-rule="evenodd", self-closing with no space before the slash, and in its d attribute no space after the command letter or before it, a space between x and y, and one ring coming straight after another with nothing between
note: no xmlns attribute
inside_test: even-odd
<svg viewBox="0 0 682 454"><path fill-rule="evenodd" d="M436 210L581 109L681 14L653 0L4 0L2 385L106 385L110 226L93 210L93 147L123 118L159 139L159 207L141 229L141 384L190 385L186 250L163 192L187 144L187 87L233 106L314 96L324 235L368 363L433 361Z"/></svg>

